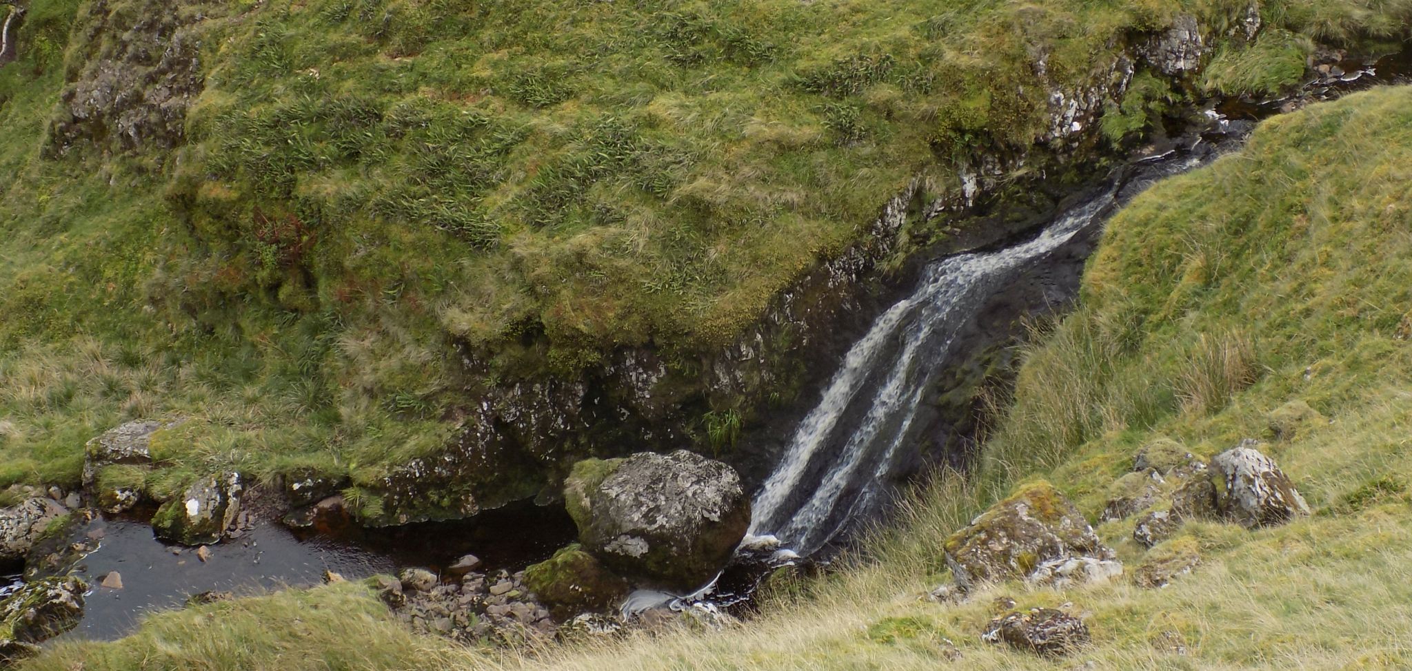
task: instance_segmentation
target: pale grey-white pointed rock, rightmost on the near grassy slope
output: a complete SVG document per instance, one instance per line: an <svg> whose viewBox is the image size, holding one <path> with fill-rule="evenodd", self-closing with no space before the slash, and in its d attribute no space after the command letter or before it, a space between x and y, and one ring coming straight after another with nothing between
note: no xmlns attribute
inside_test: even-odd
<svg viewBox="0 0 1412 671"><path fill-rule="evenodd" d="M1284 524L1309 515L1309 505L1275 462L1243 441L1217 454L1211 467L1226 481L1220 509L1245 529Z"/></svg>

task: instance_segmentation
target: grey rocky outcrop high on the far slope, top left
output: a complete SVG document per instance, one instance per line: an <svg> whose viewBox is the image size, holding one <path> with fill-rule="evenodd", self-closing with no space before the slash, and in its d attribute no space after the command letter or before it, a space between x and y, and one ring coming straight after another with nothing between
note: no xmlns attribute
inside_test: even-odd
<svg viewBox="0 0 1412 671"><path fill-rule="evenodd" d="M195 30L201 4L143 0L121 11L110 4L89 3L76 20L73 51L82 61L49 124L51 155L79 145L172 148L185 138L186 110L205 87Z"/></svg>

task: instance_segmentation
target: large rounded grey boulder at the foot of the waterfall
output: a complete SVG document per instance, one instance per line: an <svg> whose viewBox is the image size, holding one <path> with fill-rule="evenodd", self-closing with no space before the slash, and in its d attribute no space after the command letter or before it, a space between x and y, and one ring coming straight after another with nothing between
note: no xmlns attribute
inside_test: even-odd
<svg viewBox="0 0 1412 671"><path fill-rule="evenodd" d="M563 493L586 550L620 575L666 589L710 579L750 526L736 471L685 450L580 461Z"/></svg>

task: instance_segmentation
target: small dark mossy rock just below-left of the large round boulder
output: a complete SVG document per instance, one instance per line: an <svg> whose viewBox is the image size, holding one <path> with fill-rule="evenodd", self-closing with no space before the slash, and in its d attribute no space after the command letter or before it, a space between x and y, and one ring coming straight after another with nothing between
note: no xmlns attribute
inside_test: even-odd
<svg viewBox="0 0 1412 671"><path fill-rule="evenodd" d="M525 586L561 616L610 609L628 592L626 579L579 544L525 568Z"/></svg>

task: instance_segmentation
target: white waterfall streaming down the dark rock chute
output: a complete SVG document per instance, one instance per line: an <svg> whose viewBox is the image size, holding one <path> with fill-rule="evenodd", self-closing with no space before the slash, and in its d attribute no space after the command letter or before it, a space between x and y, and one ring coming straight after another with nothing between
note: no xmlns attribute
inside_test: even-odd
<svg viewBox="0 0 1412 671"><path fill-rule="evenodd" d="M1141 176L1148 178L1145 185L1200 162L1173 152L1149 161ZM899 457L915 450L918 410L945 371L942 362L957 334L986 300L1035 261L1101 224L1131 196L1124 186L1125 180L1114 179L1029 241L932 262L919 286L853 344L818 406L799 421L779 465L755 495L750 534L810 554L858 512L871 509Z"/></svg>

